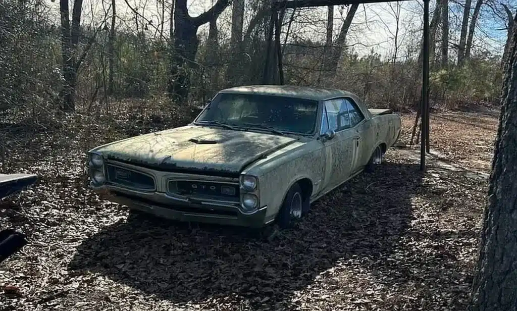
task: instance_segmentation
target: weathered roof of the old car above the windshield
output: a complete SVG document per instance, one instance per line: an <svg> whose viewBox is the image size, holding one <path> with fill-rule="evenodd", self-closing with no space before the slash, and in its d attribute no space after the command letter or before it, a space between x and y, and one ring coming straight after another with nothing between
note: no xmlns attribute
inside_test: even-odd
<svg viewBox="0 0 517 311"><path fill-rule="evenodd" d="M275 95L322 101L336 97L356 97L351 92L323 87L297 85L243 85L220 90L219 93Z"/></svg>

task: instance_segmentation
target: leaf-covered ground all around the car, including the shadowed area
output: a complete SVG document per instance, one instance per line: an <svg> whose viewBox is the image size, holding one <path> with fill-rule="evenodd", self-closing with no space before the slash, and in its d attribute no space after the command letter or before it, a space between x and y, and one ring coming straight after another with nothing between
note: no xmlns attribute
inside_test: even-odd
<svg viewBox="0 0 517 311"><path fill-rule="evenodd" d="M0 263L0 310L465 310L485 177L421 174L418 146L391 148L375 173L264 243L237 228L128 219L100 200L85 182L88 148L189 119L125 106L110 115L0 128L0 173L40 176L0 202L0 228L29 237ZM399 144L414 118L403 115ZM497 125L497 111L433 113L430 159L489 173Z"/></svg>

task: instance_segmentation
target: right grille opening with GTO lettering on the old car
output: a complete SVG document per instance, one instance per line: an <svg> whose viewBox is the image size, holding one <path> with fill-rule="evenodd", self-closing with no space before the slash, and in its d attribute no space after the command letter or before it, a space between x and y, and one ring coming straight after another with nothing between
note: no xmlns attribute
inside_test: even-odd
<svg viewBox="0 0 517 311"><path fill-rule="evenodd" d="M170 180L169 193L196 198L239 201L239 185L227 182Z"/></svg>

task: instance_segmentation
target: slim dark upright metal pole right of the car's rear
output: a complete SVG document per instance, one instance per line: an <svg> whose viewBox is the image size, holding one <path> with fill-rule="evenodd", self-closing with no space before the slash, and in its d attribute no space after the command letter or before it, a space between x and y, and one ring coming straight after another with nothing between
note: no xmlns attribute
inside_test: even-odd
<svg viewBox="0 0 517 311"><path fill-rule="evenodd" d="M429 120L429 105L428 105L428 89L429 89L429 0L423 0L423 44L422 44L422 95L421 95L421 139L420 139L420 170L425 171L425 147L428 120Z"/></svg>

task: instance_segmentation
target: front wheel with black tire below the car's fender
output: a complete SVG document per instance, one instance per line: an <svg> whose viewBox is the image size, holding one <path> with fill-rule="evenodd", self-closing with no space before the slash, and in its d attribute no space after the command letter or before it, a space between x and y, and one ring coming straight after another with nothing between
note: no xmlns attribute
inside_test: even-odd
<svg viewBox="0 0 517 311"><path fill-rule="evenodd" d="M299 206L297 206L298 204ZM304 208L305 204L307 204L307 202L303 198L301 187L298 183L295 183L291 186L291 189L287 191L277 215L277 224L280 229L292 228L293 225L307 213L308 208ZM292 208L294 208L293 212L291 211Z"/></svg>

